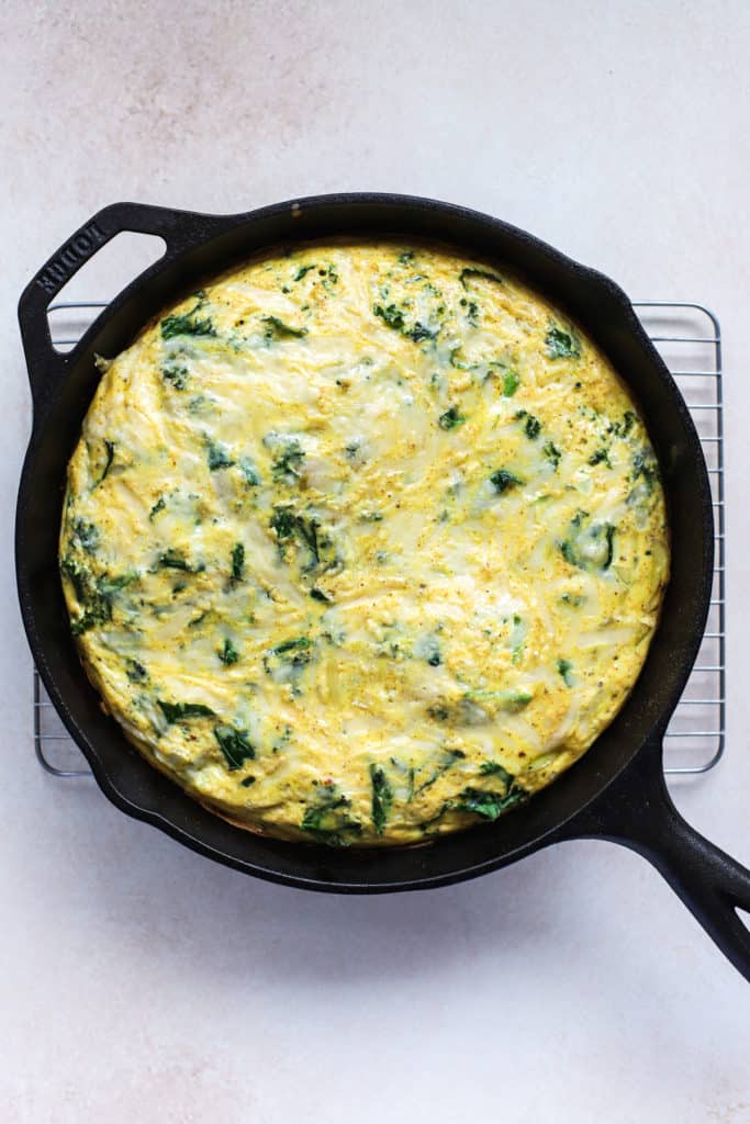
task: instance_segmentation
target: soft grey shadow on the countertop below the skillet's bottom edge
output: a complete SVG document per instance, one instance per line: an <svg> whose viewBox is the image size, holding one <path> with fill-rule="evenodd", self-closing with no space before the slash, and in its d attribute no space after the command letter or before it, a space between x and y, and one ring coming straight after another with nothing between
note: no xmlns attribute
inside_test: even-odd
<svg viewBox="0 0 750 1124"><path fill-rule="evenodd" d="M138 954L147 949L154 968L168 977L177 966L190 976L208 971L219 990L236 986L238 976L246 984L262 976L271 986L314 988L324 980L351 986L383 978L428 980L457 961L491 959L498 967L527 961L531 969L534 962L552 963L566 945L585 960L587 943L603 946L607 930L614 959L622 953L618 937L627 910L639 906L640 883L631 878L625 887L630 906L624 901L617 909L613 886L623 863L638 863L643 877L659 883L659 900L670 899L642 859L600 842L558 844L437 889L342 896L263 882L214 863L124 817L93 788L85 795L79 789L74 798L71 792L69 810L74 819L70 878L79 882L80 896L78 873L83 872L92 923L124 954L128 948ZM586 861L594 855L596 862ZM71 886L65 876L55 886L64 913ZM612 908L603 910L613 894ZM676 910L684 909L674 903ZM697 925L694 934L696 946L705 946ZM642 970L634 958L633 972Z"/></svg>

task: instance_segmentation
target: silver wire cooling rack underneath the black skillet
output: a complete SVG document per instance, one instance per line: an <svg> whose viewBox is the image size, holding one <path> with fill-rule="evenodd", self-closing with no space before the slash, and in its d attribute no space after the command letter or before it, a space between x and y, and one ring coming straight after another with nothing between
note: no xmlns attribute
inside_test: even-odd
<svg viewBox="0 0 750 1124"><path fill-rule="evenodd" d="M49 306L53 343L69 351L106 301ZM708 465L714 505L716 551L711 611L695 668L672 715L665 742L665 771L702 774L724 753L725 690L725 538L722 342L719 320L703 305L635 301L633 307L662 355L689 407ZM63 727L34 669L34 750L53 777L90 777L85 761Z"/></svg>

